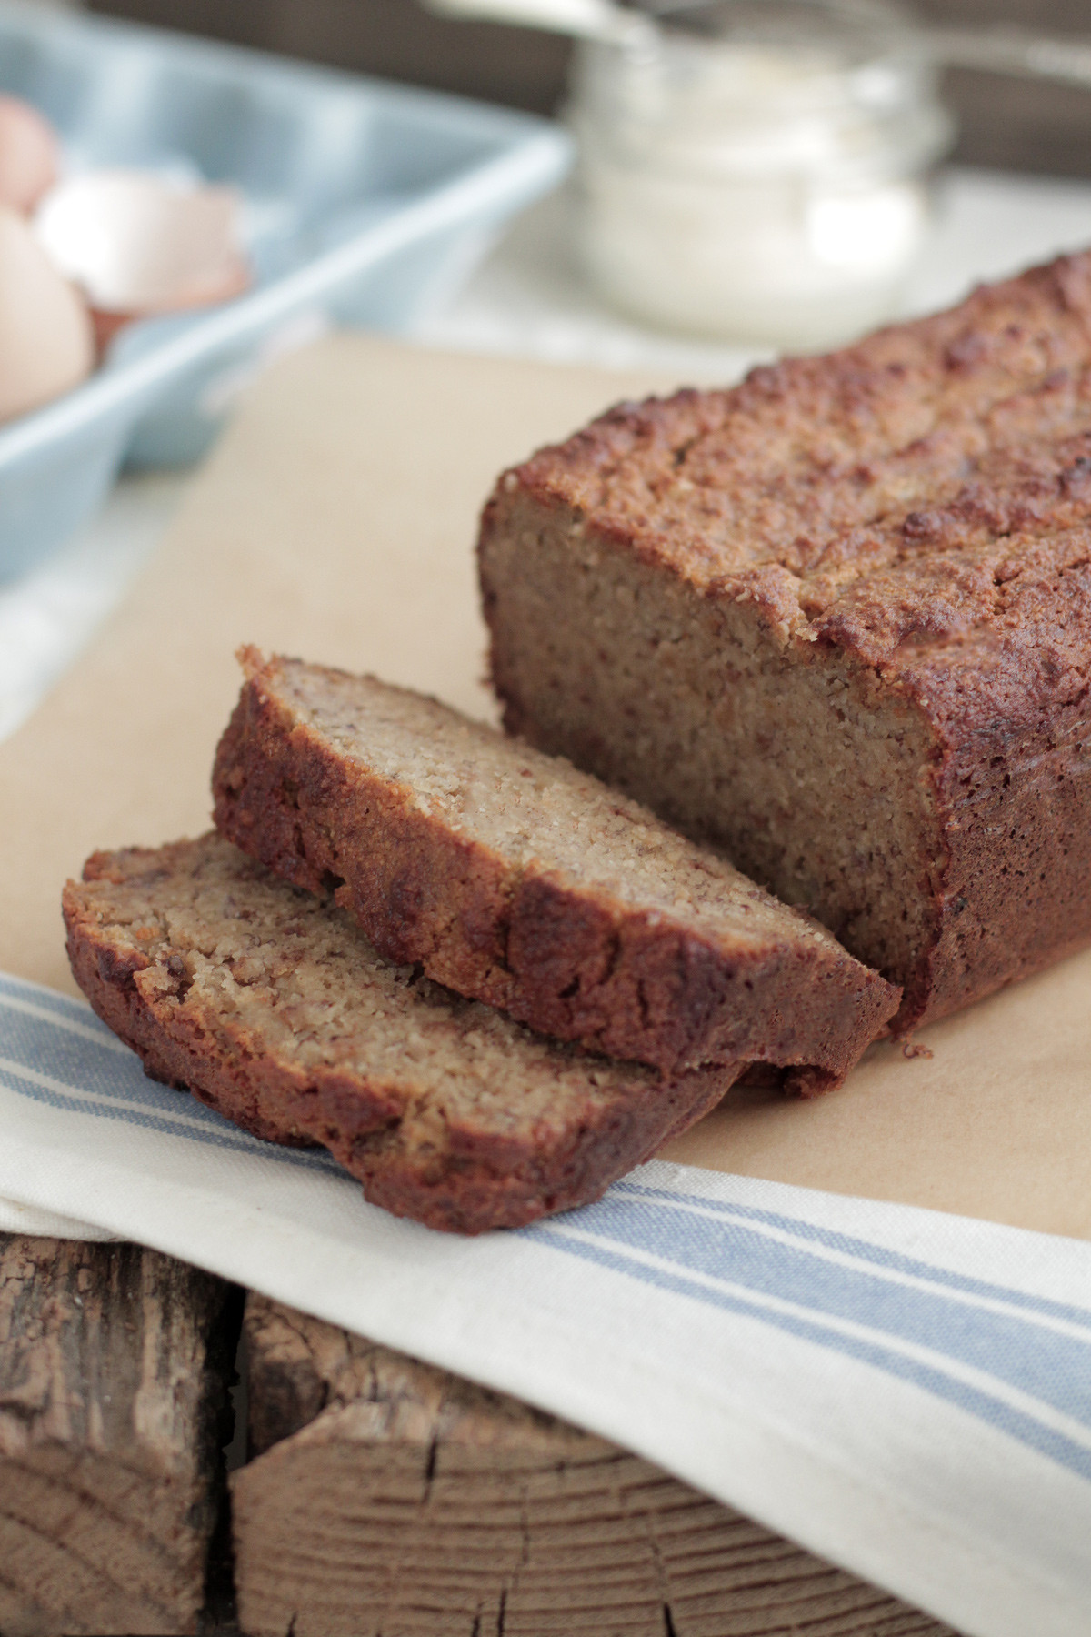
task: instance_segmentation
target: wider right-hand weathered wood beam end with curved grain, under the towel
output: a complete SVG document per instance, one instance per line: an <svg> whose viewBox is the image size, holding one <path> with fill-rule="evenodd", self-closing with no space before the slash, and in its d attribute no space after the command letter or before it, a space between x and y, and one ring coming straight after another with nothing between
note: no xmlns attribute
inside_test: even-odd
<svg viewBox="0 0 1091 1637"><path fill-rule="evenodd" d="M950 1637L612 1444L247 1298L252 1637Z"/></svg>

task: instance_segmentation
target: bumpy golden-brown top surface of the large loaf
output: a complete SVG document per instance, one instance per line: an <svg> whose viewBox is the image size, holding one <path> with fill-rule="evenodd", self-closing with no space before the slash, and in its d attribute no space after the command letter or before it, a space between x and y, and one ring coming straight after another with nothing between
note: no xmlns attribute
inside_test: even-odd
<svg viewBox="0 0 1091 1637"><path fill-rule="evenodd" d="M1024 517L1042 503L1052 517L1058 491L1078 501L1089 360L1091 252L730 391L618 404L505 473L491 504L519 489L569 506L713 594L780 591L811 640L810 622L891 563L916 576L936 507L968 503L1004 534L990 491L1014 489Z"/></svg>

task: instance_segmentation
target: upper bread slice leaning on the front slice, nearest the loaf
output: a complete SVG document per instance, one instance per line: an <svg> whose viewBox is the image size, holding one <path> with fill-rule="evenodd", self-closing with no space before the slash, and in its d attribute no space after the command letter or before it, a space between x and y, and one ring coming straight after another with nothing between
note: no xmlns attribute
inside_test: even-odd
<svg viewBox="0 0 1091 1637"><path fill-rule="evenodd" d="M801 1090L896 1010L826 928L571 763L370 676L240 658L216 825L388 958L592 1051Z"/></svg>

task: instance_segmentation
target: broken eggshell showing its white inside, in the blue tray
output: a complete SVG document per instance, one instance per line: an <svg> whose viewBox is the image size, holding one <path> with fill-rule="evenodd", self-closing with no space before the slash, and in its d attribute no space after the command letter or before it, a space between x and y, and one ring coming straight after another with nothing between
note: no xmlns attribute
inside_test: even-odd
<svg viewBox="0 0 1091 1637"><path fill-rule="evenodd" d="M52 188L34 229L103 313L141 316L224 301L249 283L232 188L141 170L88 170Z"/></svg>

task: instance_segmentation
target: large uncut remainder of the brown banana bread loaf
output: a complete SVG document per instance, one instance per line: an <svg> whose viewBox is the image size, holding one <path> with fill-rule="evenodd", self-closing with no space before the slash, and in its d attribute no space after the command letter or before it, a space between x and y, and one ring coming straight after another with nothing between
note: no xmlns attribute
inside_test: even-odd
<svg viewBox="0 0 1091 1637"><path fill-rule="evenodd" d="M721 845L906 1031L1091 936L1091 254L505 473L505 725Z"/></svg>

